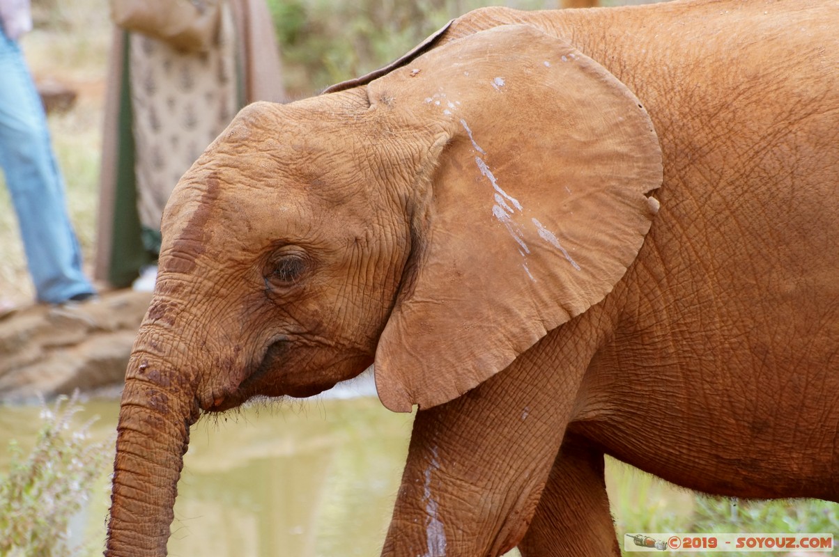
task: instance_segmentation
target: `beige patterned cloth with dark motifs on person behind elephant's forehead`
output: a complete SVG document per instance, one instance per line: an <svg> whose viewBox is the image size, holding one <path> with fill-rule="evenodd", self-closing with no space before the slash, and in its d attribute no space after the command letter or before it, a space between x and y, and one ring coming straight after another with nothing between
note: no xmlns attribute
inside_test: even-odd
<svg viewBox="0 0 839 557"><path fill-rule="evenodd" d="M232 13L225 3L207 52L182 53L142 34L131 34L129 48L138 213L146 247L157 252L175 184L240 106Z"/></svg>

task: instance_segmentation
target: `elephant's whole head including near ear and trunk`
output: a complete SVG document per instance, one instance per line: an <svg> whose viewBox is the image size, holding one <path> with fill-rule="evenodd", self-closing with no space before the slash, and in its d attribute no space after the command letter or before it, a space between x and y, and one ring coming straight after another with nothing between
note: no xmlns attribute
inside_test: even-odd
<svg viewBox="0 0 839 557"><path fill-rule="evenodd" d="M508 366L621 279L660 181L633 94L524 26L242 110L164 214L107 554L165 553L202 411L310 396L373 362L382 402L409 411Z"/></svg>

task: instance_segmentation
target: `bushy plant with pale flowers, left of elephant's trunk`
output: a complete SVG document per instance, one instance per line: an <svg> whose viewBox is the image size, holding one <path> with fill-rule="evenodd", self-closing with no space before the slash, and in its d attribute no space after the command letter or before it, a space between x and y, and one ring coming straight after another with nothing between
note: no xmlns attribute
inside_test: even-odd
<svg viewBox="0 0 839 557"><path fill-rule="evenodd" d="M24 455L12 441L7 476L0 476L0 555L58 557L76 554L70 547L70 518L87 501L102 473L106 443L93 443L92 420L70 423L81 407L76 394L44 404L33 450Z"/></svg>

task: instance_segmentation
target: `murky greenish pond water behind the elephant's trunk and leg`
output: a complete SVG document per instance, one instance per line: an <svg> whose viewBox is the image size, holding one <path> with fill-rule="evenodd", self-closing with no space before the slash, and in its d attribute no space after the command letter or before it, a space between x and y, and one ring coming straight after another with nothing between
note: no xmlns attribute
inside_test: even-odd
<svg viewBox="0 0 839 557"><path fill-rule="evenodd" d="M0 446L29 450L39 408L0 408ZM89 402L79 422L112 435L118 403ZM378 555L399 487L412 416L377 398L253 407L192 430L178 486L170 555ZM0 470L8 469L2 451ZM72 527L101 555L107 477ZM81 541L81 540L80 540Z"/></svg>

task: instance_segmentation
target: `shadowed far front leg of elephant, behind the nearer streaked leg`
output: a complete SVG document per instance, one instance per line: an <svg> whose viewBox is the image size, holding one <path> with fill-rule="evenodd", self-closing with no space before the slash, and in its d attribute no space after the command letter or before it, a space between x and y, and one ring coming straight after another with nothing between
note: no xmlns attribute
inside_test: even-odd
<svg viewBox="0 0 839 557"><path fill-rule="evenodd" d="M602 451L580 438L563 441L519 550L523 557L620 556Z"/></svg>

